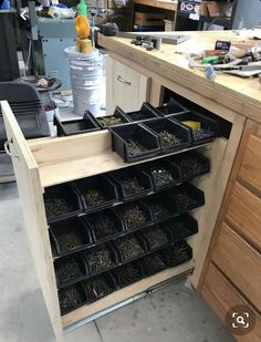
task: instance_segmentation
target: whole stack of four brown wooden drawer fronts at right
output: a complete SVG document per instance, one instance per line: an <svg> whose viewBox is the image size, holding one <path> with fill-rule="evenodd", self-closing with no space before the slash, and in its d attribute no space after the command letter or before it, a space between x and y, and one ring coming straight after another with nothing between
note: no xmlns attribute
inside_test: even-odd
<svg viewBox="0 0 261 342"><path fill-rule="evenodd" d="M244 303L255 312L254 331L238 341L261 339L261 127L248 122L216 231L201 276L199 291L225 321L228 310Z"/></svg>

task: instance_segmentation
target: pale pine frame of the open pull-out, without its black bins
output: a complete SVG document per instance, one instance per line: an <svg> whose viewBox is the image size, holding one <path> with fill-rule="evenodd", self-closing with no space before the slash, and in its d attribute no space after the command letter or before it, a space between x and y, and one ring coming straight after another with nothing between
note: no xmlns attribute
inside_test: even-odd
<svg viewBox="0 0 261 342"><path fill-rule="evenodd" d="M6 102L2 103L2 112L11 153L18 156L13 158L13 164L20 197L23 203L25 225L40 283L58 341L62 341L63 331L70 331L72 327L79 327L104 312L109 312L133 298L145 296L155 287L160 287L175 277L191 273L194 268L198 272L198 265L200 269L200 265L203 261L200 257L201 252L205 252L208 247L203 242L209 235L208 220L213 215L213 210L217 211L212 194L216 189L226 154L228 144L226 138L219 137L208 144L127 164L116 153L112 152L112 136L107 129L55 139L46 138L27 142ZM86 148L86 146L92 146L92 148ZM192 259L179 266L167 268L159 273L146 274L146 278L133 284L116 289L97 301L83 304L61 315L58 283L53 267L54 258L43 201L43 194L46 191L46 187L124 169L134 165L142 166L145 162L168 158L169 156L196 148L210 159L211 172L206 176L195 178L192 182L195 186L205 193L206 198L206 205L202 208L190 211L191 216L198 221L199 227L199 232L188 238L188 243L194 251ZM153 191L147 194L146 197L149 196L153 196ZM119 206L122 204L118 204ZM181 211L178 214L181 214ZM140 229L142 232L146 228ZM168 228L166 229L168 230ZM170 245L175 242L177 241L170 241ZM143 257L145 257L145 253ZM121 262L117 267L121 267Z"/></svg>

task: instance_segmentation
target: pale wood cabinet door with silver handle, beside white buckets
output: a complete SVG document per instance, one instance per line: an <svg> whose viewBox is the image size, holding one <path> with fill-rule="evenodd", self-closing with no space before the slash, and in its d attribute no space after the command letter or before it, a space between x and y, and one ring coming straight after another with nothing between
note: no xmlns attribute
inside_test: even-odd
<svg viewBox="0 0 261 342"><path fill-rule="evenodd" d="M116 106L125 112L139 110L147 101L149 77L109 56L106 82L107 115L113 114Z"/></svg>

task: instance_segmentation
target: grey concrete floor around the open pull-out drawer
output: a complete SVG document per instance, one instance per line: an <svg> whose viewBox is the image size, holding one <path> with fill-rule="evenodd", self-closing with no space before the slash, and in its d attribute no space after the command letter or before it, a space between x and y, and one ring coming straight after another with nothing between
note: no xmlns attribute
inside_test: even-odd
<svg viewBox="0 0 261 342"><path fill-rule="evenodd" d="M32 227L33 229L34 227ZM0 342L54 342L15 184L0 185ZM65 335L65 342L230 342L184 280Z"/></svg>

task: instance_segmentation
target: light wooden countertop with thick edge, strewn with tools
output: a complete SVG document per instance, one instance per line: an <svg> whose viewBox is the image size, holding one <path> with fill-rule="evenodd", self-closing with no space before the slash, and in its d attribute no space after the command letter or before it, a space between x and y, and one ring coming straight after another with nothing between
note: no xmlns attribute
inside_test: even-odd
<svg viewBox="0 0 261 342"><path fill-rule="evenodd" d="M154 32L153 35L163 32ZM177 32L171 32L177 34ZM168 34L171 34L168 32ZM190 69L186 56L176 53L177 49L192 52L194 46L201 50L213 49L217 40L237 40L232 31L178 32L190 34L191 39L178 44L163 44L161 51L146 51L130 44L130 39L104 37L100 34L98 44L114 55L121 55L135 62L155 75L171 80L189 90L209 97L249 118L261 122L261 85L258 79L217 73L215 83L205 76L205 72Z"/></svg>

